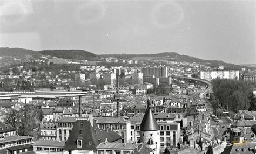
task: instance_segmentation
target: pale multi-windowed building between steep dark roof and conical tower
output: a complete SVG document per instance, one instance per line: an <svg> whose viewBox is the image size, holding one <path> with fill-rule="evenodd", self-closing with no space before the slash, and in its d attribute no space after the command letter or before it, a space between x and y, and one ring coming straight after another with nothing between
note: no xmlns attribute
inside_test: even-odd
<svg viewBox="0 0 256 154"><path fill-rule="evenodd" d="M100 130L111 129L122 136L123 143L131 140L131 122L124 118L96 117L96 122Z"/></svg>

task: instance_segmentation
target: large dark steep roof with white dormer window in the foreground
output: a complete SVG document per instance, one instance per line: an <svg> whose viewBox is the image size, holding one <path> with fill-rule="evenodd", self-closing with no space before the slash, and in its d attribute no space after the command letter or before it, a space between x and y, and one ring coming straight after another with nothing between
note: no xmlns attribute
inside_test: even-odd
<svg viewBox="0 0 256 154"><path fill-rule="evenodd" d="M79 133L82 130L82 134ZM119 135L118 135L119 136ZM96 122L93 121L93 127L90 121L87 120L77 120L73 124L73 128L70 132L69 138L65 143L65 150L96 150L96 146L102 141L114 142L122 138L118 137L116 132L111 130L100 131ZM82 148L77 147L77 139L82 139Z"/></svg>

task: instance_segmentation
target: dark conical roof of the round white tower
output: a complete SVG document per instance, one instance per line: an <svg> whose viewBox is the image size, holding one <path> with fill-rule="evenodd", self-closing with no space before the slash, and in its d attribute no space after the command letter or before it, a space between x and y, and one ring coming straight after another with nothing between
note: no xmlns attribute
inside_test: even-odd
<svg viewBox="0 0 256 154"><path fill-rule="evenodd" d="M140 130L142 131L160 130L156 122L156 119L154 118L154 115L152 113L152 110L150 109L149 106L146 109L145 115L142 119L142 123L140 123Z"/></svg>

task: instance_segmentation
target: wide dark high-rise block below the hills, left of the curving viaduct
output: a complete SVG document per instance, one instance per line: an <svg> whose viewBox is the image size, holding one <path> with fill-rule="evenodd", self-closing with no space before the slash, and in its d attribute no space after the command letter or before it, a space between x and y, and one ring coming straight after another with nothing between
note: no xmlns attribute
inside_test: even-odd
<svg viewBox="0 0 256 154"><path fill-rule="evenodd" d="M143 75L154 75L156 77L167 77L167 67L143 67Z"/></svg>

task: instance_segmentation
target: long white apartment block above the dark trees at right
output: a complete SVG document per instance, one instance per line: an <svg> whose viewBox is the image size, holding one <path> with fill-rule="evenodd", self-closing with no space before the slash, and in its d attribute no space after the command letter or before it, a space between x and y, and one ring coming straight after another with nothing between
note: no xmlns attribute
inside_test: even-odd
<svg viewBox="0 0 256 154"><path fill-rule="evenodd" d="M239 71L200 71L200 79L211 81L216 78L239 80Z"/></svg>

